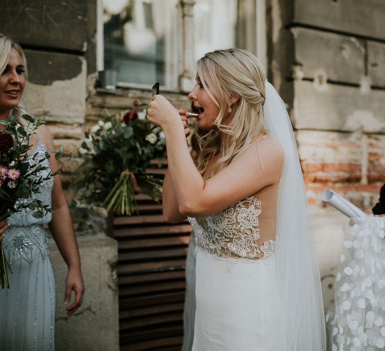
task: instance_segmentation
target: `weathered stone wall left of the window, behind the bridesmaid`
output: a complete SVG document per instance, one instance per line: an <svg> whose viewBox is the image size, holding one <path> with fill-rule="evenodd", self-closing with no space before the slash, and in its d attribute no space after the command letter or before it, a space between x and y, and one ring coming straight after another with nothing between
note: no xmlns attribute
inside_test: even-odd
<svg viewBox="0 0 385 351"><path fill-rule="evenodd" d="M31 114L47 122L54 143L73 152L62 158L62 182L68 201L77 148L83 138L86 100L96 77L96 0L41 0L2 4L0 33L12 35L25 50L29 79L24 102ZM117 350L118 308L116 242L104 233L79 238L85 300L65 317L67 267L54 242L52 265L57 285L56 349ZM102 332L100 332L102 330Z"/></svg>

